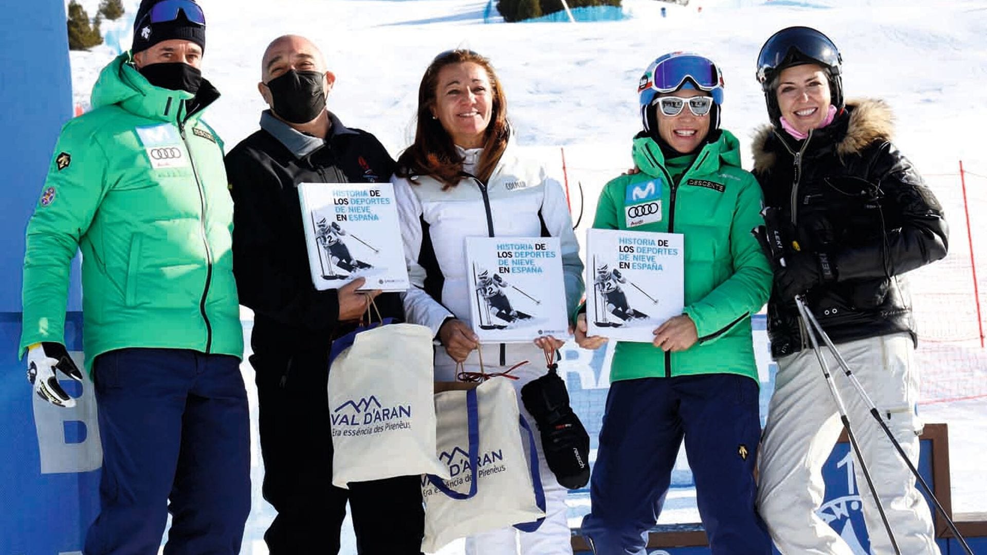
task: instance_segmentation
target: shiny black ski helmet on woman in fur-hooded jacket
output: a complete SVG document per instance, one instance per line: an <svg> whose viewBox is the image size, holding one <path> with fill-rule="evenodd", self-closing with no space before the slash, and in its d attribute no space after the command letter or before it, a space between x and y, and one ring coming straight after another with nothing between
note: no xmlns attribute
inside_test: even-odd
<svg viewBox="0 0 987 555"><path fill-rule="evenodd" d="M764 91L768 116L776 126L782 118L775 96L775 80L785 69L805 63L822 66L829 79L829 94L833 106L843 109L843 57L829 37L811 27L788 27L771 36L757 55L757 80Z"/></svg>

